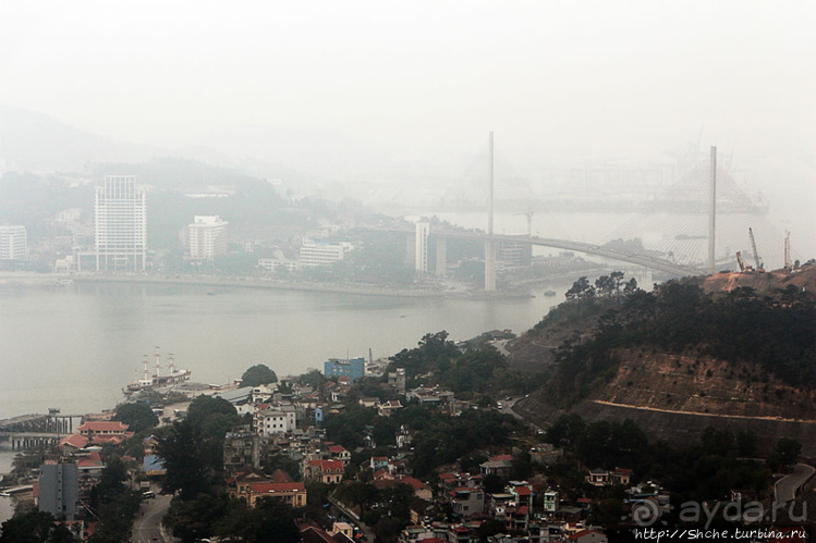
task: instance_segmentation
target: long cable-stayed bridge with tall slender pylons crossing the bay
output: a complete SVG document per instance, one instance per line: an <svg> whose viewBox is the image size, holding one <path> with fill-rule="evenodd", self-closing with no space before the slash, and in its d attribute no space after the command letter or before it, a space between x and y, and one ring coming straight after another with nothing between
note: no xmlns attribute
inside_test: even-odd
<svg viewBox="0 0 816 543"><path fill-rule="evenodd" d="M540 215L541 209L547 213L546 201L538 200L535 205L538 209L536 213ZM644 199L640 208L640 212L631 220L617 227L610 226L601 240L585 243L570 239L569 235L548 236L540 232L533 235L532 227L528 227L526 235L497 235L491 232L491 201L488 203L490 226L487 232L439 226L434 226L431 232L429 225L422 229L417 226L416 269L421 274L428 272L427 237L430 235L435 235L437 240L438 275L443 273L447 266L446 239L484 239L486 291L495 288L497 243L528 244L583 252L677 276L711 273L720 267L733 269L736 251L741 251L743 258L752 264L756 260L757 268L763 264L769 269L781 268L784 262L784 234L774 227L765 210L752 201L729 172L717 165L715 148L711 149L709 160L698 163L666 193ZM528 214L529 221L532 211L524 211L520 209L516 214ZM617 211L614 200L610 199L608 212ZM753 250L748 229L755 235L758 251ZM796 258L795 252L792 258ZM489 279L490 275L492 279Z"/></svg>

